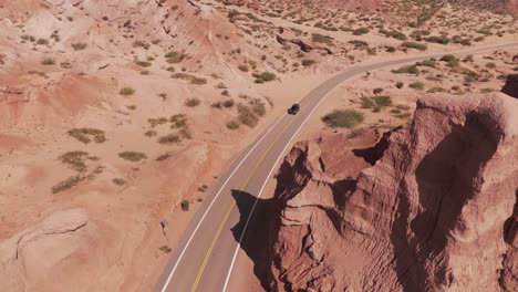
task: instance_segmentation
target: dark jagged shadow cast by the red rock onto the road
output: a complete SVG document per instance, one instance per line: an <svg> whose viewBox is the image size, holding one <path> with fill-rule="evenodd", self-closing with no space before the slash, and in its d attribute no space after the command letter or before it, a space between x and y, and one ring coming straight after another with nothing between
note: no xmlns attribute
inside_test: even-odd
<svg viewBox="0 0 518 292"><path fill-rule="evenodd" d="M273 279L271 247L277 236L274 228L278 228L276 222L278 216L276 216L273 199L257 199L241 190L232 190L231 195L240 213L239 222L231 228L234 238L253 262L253 274L265 291L274 291L271 281ZM250 218L255 204L253 216Z"/></svg>

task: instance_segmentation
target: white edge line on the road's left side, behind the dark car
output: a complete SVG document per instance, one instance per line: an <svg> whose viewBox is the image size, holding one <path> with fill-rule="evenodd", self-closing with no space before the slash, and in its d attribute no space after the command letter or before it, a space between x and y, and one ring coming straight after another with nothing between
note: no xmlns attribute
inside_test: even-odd
<svg viewBox="0 0 518 292"><path fill-rule="evenodd" d="M221 187L219 188L218 192L216 194L216 196L214 197L213 201L210 202L210 205L207 207L207 209L205 210L204 215L201 216L201 219L198 221L198 225L196 225L195 227L195 230L193 231L193 233L190 234L189 239L187 240L187 243L184 246L184 249L182 250L180 254L178 255L178 259L176 260L176 263L175 265L173 267L173 270L170 271L169 275L167 277L167 280L166 282L164 283L164 286L162 288L160 292L165 292L167 290L167 286L169 285L169 282L170 282L170 279L173 279L173 275L175 274L176 272L176 269L178 268L178 264L179 262L182 261L184 254L185 254L185 251L187 250L187 248L189 247L190 244L190 241L193 241L193 238L196 236L196 232L198 231L198 228L201 226L201 223L204 222L204 219L205 217L207 216L207 213L209 212L210 208L213 207L214 202L216 201L216 199L219 197L219 194L221 194L222 189L227 186L227 182L230 180L230 178L232 178L234 174L237 171L237 169L242 165L242 163L245 163L245 160L248 158L248 156L257 148L257 146L259 146L259 144L261 144L261 142L268 136L268 134L277 126L277 124L280 123L280 121L282 121L282 118L286 116L286 113L277 119L277 122L270 126L270 128L265 133L265 135L262 135L262 137L256 143L256 145L253 145L253 147L247 153L247 155L245 155L245 157L242 157L242 159L239 161L239 164L234 168L232 173L230 173L230 175L228 176L227 180L225 180L225 182L221 185Z"/></svg>

